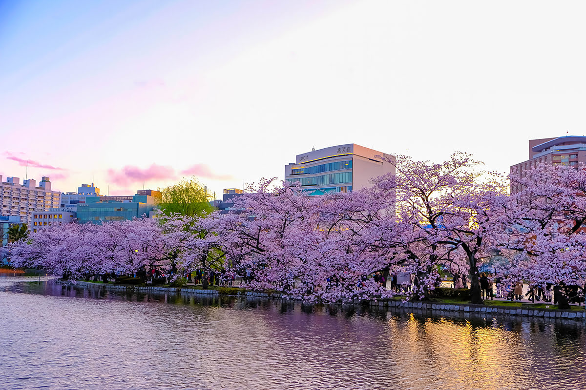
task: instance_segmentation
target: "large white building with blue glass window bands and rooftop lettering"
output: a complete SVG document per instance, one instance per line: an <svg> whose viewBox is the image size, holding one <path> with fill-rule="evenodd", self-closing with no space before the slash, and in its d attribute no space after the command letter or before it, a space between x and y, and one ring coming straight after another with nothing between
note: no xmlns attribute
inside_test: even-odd
<svg viewBox="0 0 586 390"><path fill-rule="evenodd" d="M395 172L393 164L381 160L394 157L356 144L326 147L298 154L285 165L285 180L299 181L309 195L347 192L370 187L372 178Z"/></svg>

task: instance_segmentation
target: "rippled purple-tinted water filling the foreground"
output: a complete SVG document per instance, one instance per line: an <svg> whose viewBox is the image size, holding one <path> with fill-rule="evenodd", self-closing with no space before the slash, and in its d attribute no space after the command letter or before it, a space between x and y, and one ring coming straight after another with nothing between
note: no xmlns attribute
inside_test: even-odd
<svg viewBox="0 0 586 390"><path fill-rule="evenodd" d="M586 388L583 322L34 280L0 277L0 389Z"/></svg>

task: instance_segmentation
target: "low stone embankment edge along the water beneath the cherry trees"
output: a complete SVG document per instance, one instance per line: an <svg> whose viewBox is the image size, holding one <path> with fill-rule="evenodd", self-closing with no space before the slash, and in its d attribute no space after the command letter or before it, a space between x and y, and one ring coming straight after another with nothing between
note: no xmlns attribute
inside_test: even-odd
<svg viewBox="0 0 586 390"><path fill-rule="evenodd" d="M241 294L223 294L222 291L216 289L196 289L190 287L143 287L132 285L115 285L115 284L99 284L92 282L63 281L57 279L61 284L73 284L79 287L100 287L115 291L133 291L133 292L151 292L153 294L192 294L200 296L241 296L244 298L256 299L287 299L288 301L299 301L298 299L282 298L280 292L262 292L262 291L242 291ZM230 289L230 288L227 288ZM299 301L301 302L301 301ZM399 301L397 299L380 299L378 301L360 301L355 299L353 302L345 303L344 305L369 305L384 308L397 309L418 309L418 310L438 310L447 312L462 312L462 313L481 313L481 314L501 314L509 316L522 317L541 317L541 318L560 318L560 319L575 319L586 320L586 311L560 310L560 309L530 309L530 308L509 308L508 306L498 305L474 305L473 303L438 303L438 302L411 302Z"/></svg>

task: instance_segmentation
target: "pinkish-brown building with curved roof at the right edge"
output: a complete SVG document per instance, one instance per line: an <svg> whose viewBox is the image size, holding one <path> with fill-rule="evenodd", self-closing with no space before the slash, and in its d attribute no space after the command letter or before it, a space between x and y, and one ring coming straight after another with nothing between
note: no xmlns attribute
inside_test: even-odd
<svg viewBox="0 0 586 390"><path fill-rule="evenodd" d="M539 164L564 164L577 167L586 163L586 136L563 136L529 140L529 160L511 165L510 172L524 172L532 170ZM519 188L512 187L512 192Z"/></svg>

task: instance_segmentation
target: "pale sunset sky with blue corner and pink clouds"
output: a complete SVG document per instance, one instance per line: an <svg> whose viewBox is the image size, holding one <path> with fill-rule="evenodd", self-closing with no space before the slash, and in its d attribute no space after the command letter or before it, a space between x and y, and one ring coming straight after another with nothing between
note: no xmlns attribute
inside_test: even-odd
<svg viewBox="0 0 586 390"><path fill-rule="evenodd" d="M506 174L586 134L583 1L0 0L0 175L210 193L313 147ZM28 161L28 171L26 168Z"/></svg>

